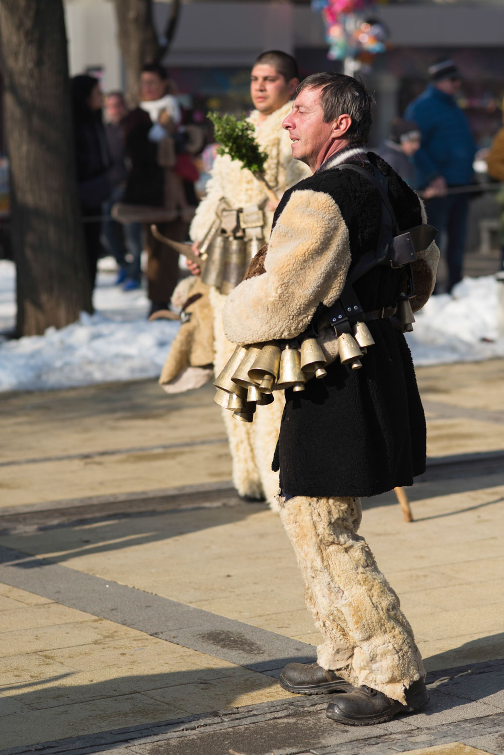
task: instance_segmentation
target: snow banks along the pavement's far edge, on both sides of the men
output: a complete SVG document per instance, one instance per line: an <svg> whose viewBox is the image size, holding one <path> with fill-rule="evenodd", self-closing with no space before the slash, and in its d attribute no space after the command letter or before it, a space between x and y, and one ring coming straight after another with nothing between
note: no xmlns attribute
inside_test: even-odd
<svg viewBox="0 0 504 755"><path fill-rule="evenodd" d="M96 313L43 336L0 340L0 391L46 390L157 377L179 323L147 321L143 288L115 286L115 263L100 260ZM497 338L497 292L493 276L465 278L453 294L432 297L416 314L407 341L415 365L478 362L504 357ZM0 260L0 328L14 327L14 265Z"/></svg>

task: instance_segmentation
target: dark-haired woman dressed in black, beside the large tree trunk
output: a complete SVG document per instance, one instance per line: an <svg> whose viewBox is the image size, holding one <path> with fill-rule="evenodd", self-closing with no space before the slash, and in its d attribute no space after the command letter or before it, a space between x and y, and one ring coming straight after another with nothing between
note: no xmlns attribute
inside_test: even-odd
<svg viewBox="0 0 504 755"><path fill-rule="evenodd" d="M86 257L91 291L97 275L97 263L103 248L100 242L102 202L109 198L109 149L102 121L100 82L93 76L72 79L75 156L78 190L81 198ZM96 217L97 220L91 220ZM89 220L88 220L89 219Z"/></svg>

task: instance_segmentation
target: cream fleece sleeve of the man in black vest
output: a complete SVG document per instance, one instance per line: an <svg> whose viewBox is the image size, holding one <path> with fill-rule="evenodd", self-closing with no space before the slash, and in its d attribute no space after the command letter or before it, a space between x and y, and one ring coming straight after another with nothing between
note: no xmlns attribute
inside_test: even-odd
<svg viewBox="0 0 504 755"><path fill-rule="evenodd" d="M266 273L226 299L223 325L235 344L292 338L343 291L350 264L349 232L333 198L293 191L269 239Z"/></svg>

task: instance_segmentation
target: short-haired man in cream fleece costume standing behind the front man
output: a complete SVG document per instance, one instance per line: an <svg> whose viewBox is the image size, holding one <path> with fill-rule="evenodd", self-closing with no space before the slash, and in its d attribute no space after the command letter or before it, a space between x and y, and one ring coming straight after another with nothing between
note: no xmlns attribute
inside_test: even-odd
<svg viewBox="0 0 504 755"><path fill-rule="evenodd" d="M284 191L309 175L302 162L293 159L287 131L281 122L290 112L290 98L299 84L297 63L281 51L260 54L250 74L250 97L255 109L249 121L254 126L255 138L266 152L265 174L278 199ZM189 235L198 242L215 220L220 199L226 199L232 208L260 205L264 207L263 238L269 237L273 211L264 186L250 171L241 168L241 162L229 156L217 156L212 168L207 195L198 205ZM197 268L189 265L193 272ZM214 371L219 374L232 354L234 346L223 334L222 313L226 295L211 288L210 301L214 310ZM260 406L253 424L238 422L223 409L229 449L232 455L232 479L238 493L250 498L266 498L270 506L278 508L278 473L271 469L271 459L278 437L283 401Z"/></svg>

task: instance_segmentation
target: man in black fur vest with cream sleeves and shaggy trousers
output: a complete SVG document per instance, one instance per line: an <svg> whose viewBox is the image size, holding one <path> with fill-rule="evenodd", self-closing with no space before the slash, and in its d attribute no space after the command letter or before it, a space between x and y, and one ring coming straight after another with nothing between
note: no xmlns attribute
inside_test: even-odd
<svg viewBox="0 0 504 755"><path fill-rule="evenodd" d="M296 339L315 325L332 360L324 379L286 390L273 461L281 520L324 638L318 662L288 664L280 683L300 694L340 692L327 716L351 725L428 700L410 624L357 535L362 495L411 485L425 470L426 423L398 307L423 307L439 256L416 194L364 148L370 106L364 85L346 75L300 84L282 125L313 175L284 193L263 263L254 261L223 312L226 337L243 345ZM405 241L416 256L401 267ZM354 309L374 340L361 368L341 348L337 359Z"/></svg>

